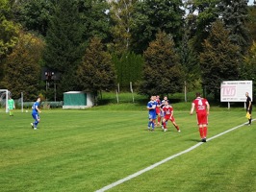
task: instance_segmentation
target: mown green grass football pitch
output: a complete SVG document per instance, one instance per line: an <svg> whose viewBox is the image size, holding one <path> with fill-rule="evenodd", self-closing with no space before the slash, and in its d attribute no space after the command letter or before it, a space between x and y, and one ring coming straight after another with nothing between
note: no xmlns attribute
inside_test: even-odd
<svg viewBox="0 0 256 192"><path fill-rule="evenodd" d="M96 191L200 143L195 114L174 111L181 132L147 132L144 110L0 113L1 191ZM246 122L243 110L216 110L208 138ZM255 124L255 125L254 125ZM108 191L256 191L256 122L220 135Z"/></svg>

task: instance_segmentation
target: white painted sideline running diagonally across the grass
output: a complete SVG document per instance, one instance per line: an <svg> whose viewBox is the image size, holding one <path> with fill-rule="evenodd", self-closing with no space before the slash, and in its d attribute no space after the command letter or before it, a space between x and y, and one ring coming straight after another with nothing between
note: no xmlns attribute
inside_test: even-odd
<svg viewBox="0 0 256 192"><path fill-rule="evenodd" d="M252 121L254 121L254 119L253 119ZM227 133L227 132L232 132L232 131L234 131L234 130L236 130L236 129L238 129L238 128L243 127L244 125L245 125L245 123L242 124L242 125L240 125L240 126L237 126L237 127L235 127L235 128L232 128L232 129L230 129L230 130L227 130L227 131L225 131L225 132L221 132L221 133L219 133L219 134L217 134L217 135L215 135L215 136L213 136L213 137L211 137L211 138L208 138L207 141L213 140L213 139L217 138L218 136L221 136L221 135L223 135L223 134L225 134L225 133ZM183 155L183 154L187 154L187 153L191 152L193 149L199 147L199 146L202 145L202 144L203 144L203 142L197 143L197 144L195 144L194 146L192 146L191 148L189 148L189 149L187 149L187 150L184 150L183 152L180 152L180 153L175 154L175 155L173 155L173 156L168 156L168 157L166 157L164 160L161 160L161 161L159 161L159 162L157 162L157 163L155 163L155 164L153 164L153 165L150 165L149 167L146 167L145 169L142 169L141 171L139 171L139 172L137 172L137 173L135 173L135 174L132 174L132 175L130 175L130 176L124 178L124 179L117 180L117 181L115 181L115 182L113 182L113 183L111 183L111 184L109 184L109 185L107 185L107 186L104 186L103 188L101 188L101 189L99 189L99 190L96 190L95 192L104 192L104 191L109 190L109 189L115 187L116 185L121 184L121 183L123 183L123 182L125 182L125 181L127 181L127 180L131 180L131 179L133 179L133 178L136 178L136 177L140 176L141 174L143 174L143 173L145 173L145 172L147 172L147 171L149 171L149 170L151 170L151 169L154 169L155 167L157 167L157 166L159 166L159 165L161 165L161 164L167 162L168 160L170 160L170 159L172 159L172 158L175 158L175 157L177 157L177 156L181 156L181 155Z"/></svg>

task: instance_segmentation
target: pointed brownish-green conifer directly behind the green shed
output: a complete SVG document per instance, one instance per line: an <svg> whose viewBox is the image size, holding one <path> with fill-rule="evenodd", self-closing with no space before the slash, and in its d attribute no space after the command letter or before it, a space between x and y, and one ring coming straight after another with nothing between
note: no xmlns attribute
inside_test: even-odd
<svg viewBox="0 0 256 192"><path fill-rule="evenodd" d="M115 87L112 57L104 48L100 38L91 38L83 63L78 67L77 77L79 88L92 92L95 97L98 92L112 90Z"/></svg>

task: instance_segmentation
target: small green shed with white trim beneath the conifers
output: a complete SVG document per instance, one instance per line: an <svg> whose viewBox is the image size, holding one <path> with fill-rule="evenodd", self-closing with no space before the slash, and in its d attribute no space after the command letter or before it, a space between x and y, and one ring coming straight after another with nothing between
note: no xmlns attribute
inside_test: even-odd
<svg viewBox="0 0 256 192"><path fill-rule="evenodd" d="M89 92L68 91L64 92L63 108L91 108L93 106L93 97Z"/></svg>

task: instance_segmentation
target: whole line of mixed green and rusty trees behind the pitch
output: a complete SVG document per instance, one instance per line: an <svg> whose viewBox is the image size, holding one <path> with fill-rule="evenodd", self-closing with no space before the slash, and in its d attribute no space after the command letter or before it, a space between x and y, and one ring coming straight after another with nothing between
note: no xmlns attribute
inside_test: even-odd
<svg viewBox="0 0 256 192"><path fill-rule="evenodd" d="M218 100L222 81L256 76L256 6L247 3L0 0L0 87L29 101L130 82L164 95L186 82Z"/></svg>

